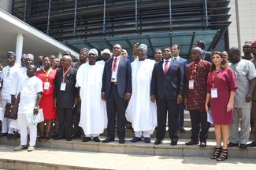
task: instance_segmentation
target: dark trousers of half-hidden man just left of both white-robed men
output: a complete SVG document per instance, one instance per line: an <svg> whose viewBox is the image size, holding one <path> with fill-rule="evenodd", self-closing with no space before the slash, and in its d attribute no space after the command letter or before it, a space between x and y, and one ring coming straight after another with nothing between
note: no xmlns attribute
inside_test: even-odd
<svg viewBox="0 0 256 170"><path fill-rule="evenodd" d="M73 135L76 137L80 137L82 133L82 128L78 126L80 122L80 110L81 110L81 103L76 104L76 107L73 109L73 115L72 115L72 124L74 125L73 129Z"/></svg>

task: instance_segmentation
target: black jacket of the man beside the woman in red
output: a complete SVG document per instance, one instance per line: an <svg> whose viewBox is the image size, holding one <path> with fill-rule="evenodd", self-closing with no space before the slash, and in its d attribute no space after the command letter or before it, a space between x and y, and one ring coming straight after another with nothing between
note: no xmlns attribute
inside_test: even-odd
<svg viewBox="0 0 256 170"><path fill-rule="evenodd" d="M69 72L65 75L65 91L61 91L61 82L63 78L63 70L59 69L55 78L54 98L57 99L57 107L72 108L75 103L76 97L79 96L76 85L76 72L77 69L71 67Z"/></svg>

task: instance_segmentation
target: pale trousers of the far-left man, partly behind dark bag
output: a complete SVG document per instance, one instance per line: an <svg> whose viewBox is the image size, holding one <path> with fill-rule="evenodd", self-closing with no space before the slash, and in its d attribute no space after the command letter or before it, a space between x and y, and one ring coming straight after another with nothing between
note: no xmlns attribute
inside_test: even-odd
<svg viewBox="0 0 256 170"><path fill-rule="evenodd" d="M2 133L9 133L9 134L13 134L14 128L10 128L9 127L9 123L11 121L11 119L9 118L5 118L4 114L6 111L6 104L7 103L11 103L11 101L9 99L2 99Z"/></svg>

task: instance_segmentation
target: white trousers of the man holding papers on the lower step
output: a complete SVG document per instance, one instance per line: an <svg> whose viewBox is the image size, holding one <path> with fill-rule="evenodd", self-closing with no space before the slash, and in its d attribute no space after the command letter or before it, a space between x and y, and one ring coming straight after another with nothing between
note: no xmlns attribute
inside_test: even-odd
<svg viewBox="0 0 256 170"><path fill-rule="evenodd" d="M37 136L37 124L28 125L26 114L18 114L18 125L20 128L20 145L28 144L29 129L29 146L35 146Z"/></svg>

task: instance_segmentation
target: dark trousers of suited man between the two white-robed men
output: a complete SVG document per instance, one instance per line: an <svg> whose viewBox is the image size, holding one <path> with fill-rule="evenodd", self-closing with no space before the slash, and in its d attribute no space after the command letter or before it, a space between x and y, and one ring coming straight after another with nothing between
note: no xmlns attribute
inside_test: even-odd
<svg viewBox="0 0 256 170"><path fill-rule="evenodd" d="M117 136L119 139L125 137L125 110L127 101L118 95L117 85L111 85L110 95L106 99L106 110L108 115L107 136L115 137L115 125L117 118Z"/></svg>

